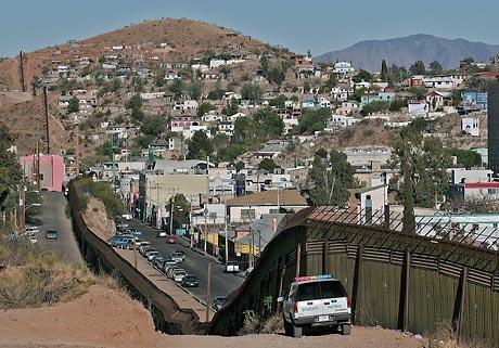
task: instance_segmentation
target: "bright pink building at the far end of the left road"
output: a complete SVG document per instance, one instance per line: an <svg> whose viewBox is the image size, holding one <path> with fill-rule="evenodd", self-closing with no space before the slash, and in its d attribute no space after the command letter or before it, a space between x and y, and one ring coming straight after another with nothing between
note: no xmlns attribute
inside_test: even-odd
<svg viewBox="0 0 499 348"><path fill-rule="evenodd" d="M60 155L40 155L40 189L62 192L65 177L64 157ZM36 182L36 155L21 156L20 163L24 176Z"/></svg>

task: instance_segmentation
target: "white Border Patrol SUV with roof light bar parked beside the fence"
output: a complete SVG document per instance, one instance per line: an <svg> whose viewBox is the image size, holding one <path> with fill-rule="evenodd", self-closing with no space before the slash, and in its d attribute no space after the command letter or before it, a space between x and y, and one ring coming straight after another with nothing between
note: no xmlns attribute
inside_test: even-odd
<svg viewBox="0 0 499 348"><path fill-rule="evenodd" d="M342 327L343 335L351 330L350 300L342 283L331 274L295 278L283 302L286 335L300 337L303 327Z"/></svg>

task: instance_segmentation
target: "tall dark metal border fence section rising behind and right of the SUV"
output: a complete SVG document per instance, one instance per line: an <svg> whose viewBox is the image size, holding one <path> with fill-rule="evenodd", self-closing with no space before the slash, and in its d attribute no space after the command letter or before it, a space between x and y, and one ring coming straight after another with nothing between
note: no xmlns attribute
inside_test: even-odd
<svg viewBox="0 0 499 348"><path fill-rule="evenodd" d="M264 313L294 276L333 273L347 288L358 325L434 335L444 326L460 339L499 346L497 229L420 218L401 232L388 210L316 207L293 216L264 250L243 286L213 320L210 333L231 335L245 310Z"/></svg>

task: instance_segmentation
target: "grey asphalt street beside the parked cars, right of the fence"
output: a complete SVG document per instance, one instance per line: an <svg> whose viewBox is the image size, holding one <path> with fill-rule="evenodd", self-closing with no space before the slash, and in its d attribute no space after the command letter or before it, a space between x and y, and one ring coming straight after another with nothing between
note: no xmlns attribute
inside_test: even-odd
<svg viewBox="0 0 499 348"><path fill-rule="evenodd" d="M185 252L185 260L180 265L189 274L193 274L200 279L200 287L189 288L189 291L199 299L206 299L206 287L208 279L208 259L194 250L189 249L180 244L166 244L166 239L157 239L156 230L131 221L128 223L130 228L142 231L142 240L148 241L151 245L158 250L164 257L169 258L172 252ZM141 257L139 255L139 257ZM227 296L236 289L244 279L234 274L223 273L223 266L212 261L212 298L214 296Z"/></svg>

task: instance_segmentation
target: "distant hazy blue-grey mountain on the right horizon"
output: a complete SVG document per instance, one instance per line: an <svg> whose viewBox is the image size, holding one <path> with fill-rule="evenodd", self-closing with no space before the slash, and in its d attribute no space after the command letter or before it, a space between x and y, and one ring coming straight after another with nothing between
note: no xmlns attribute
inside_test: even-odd
<svg viewBox="0 0 499 348"><path fill-rule="evenodd" d="M499 46L471 42L464 39L444 39L431 35L412 35L387 40L358 42L340 51L328 52L316 57L318 62L351 61L355 67L379 72L382 60L388 66L396 64L409 67L418 60L426 65L440 62L444 68L459 66L459 62L472 56L478 62L488 62L499 53Z"/></svg>

